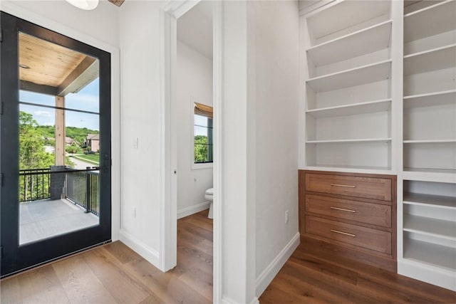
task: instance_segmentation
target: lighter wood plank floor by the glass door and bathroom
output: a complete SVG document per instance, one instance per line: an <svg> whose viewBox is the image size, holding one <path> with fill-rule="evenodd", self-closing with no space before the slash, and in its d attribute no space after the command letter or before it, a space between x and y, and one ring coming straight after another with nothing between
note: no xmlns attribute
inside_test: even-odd
<svg viewBox="0 0 456 304"><path fill-rule="evenodd" d="M212 303L212 219L177 221L167 273L120 241L0 281L0 303Z"/></svg>

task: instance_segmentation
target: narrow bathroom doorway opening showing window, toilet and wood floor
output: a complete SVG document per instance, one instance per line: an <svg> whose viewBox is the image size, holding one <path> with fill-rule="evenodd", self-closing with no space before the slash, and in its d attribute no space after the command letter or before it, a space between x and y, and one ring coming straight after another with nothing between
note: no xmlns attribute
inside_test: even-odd
<svg viewBox="0 0 456 304"><path fill-rule="evenodd" d="M177 19L175 111L177 266L180 278L212 301L213 41L212 1ZM209 218L210 217L210 218Z"/></svg>

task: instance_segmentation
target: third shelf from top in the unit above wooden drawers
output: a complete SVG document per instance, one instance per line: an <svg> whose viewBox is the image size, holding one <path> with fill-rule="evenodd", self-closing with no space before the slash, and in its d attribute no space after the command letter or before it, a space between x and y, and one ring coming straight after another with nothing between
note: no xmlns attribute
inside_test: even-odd
<svg viewBox="0 0 456 304"><path fill-rule="evenodd" d="M385 112L390 110L391 100L375 100L366 103L353 103L351 105L339 105L336 107L307 110L306 113L315 118L337 117L347 115L358 115L373 112Z"/></svg>

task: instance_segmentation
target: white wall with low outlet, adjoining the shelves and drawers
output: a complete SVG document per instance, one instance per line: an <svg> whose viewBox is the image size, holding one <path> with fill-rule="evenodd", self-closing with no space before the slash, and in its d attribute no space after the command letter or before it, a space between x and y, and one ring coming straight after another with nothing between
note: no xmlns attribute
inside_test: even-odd
<svg viewBox="0 0 456 304"><path fill-rule="evenodd" d="M249 59L254 72L255 274L257 295L299 243L297 1L249 2ZM249 100L251 102L252 100ZM289 223L285 223L285 211Z"/></svg>

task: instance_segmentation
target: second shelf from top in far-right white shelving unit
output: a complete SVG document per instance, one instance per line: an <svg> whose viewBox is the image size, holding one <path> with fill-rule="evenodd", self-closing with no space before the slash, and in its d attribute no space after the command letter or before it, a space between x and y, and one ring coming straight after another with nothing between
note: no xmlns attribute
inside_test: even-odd
<svg viewBox="0 0 456 304"><path fill-rule="evenodd" d="M456 2L455 2L456 3ZM456 44L404 57L404 75L456 67Z"/></svg>

